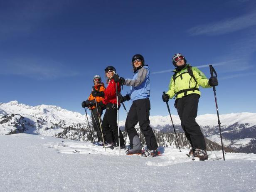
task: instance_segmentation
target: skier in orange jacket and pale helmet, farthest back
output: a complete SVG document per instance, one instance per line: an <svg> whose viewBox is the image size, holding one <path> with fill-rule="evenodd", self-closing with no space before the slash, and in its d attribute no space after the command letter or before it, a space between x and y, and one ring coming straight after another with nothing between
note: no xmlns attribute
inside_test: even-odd
<svg viewBox="0 0 256 192"><path fill-rule="evenodd" d="M97 90L97 91L106 90L104 84L101 82L101 76L95 75L93 81L94 81L94 86L93 86L94 90ZM90 94L89 98L86 101L83 101L82 107L88 107L88 108L91 107L92 124L93 124L94 130L96 130L97 132L97 137L98 137L97 144L103 145L103 138L101 134L100 121L99 121L99 119L101 119L102 111L105 107L102 100L103 100L102 97L98 97L98 96L94 97L92 94ZM98 111L96 108L96 104L98 107Z"/></svg>

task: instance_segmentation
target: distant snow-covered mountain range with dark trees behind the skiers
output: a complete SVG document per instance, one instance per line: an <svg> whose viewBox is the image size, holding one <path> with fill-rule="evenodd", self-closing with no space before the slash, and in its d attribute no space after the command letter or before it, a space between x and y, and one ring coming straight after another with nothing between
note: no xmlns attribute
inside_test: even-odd
<svg viewBox="0 0 256 192"><path fill-rule="evenodd" d="M90 114L90 111L88 113ZM219 117L226 149L243 153L256 153L256 113L229 113ZM189 148L189 143L180 126L179 117L172 115L172 120L178 133L180 146ZM220 145L217 115L199 115L196 120L207 138L207 144L217 143ZM89 123L90 128L92 128L90 116ZM125 121L120 121L121 130L123 130L124 124ZM150 126L155 131L158 143L161 143L162 146L177 147L170 116L150 116ZM139 130L138 125L136 128ZM81 113L51 105L28 106L18 101L0 103L0 135L13 133L91 140L86 116L81 115ZM124 132L124 136L126 137L126 132ZM95 131L93 131L93 138L96 138Z"/></svg>

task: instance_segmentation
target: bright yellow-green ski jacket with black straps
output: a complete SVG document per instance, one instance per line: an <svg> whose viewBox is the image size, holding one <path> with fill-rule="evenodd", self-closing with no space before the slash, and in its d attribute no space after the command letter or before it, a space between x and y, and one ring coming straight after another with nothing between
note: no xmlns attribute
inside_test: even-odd
<svg viewBox="0 0 256 192"><path fill-rule="evenodd" d="M194 74L194 78L196 81L194 81L194 78L188 73L188 67L190 67L189 64L186 64L186 66L181 69L180 71L177 71L177 69L173 70L175 75L175 81L174 81L174 75L172 75L172 78L170 80L169 84L169 91L166 92L170 96L170 98L182 98L183 96L189 95L189 94L199 94L201 95L199 91L199 86L202 86L203 88L211 87L208 82L209 80L206 78L206 76L197 69L197 67L192 66L192 72ZM194 90L187 90L187 89L194 89Z"/></svg>

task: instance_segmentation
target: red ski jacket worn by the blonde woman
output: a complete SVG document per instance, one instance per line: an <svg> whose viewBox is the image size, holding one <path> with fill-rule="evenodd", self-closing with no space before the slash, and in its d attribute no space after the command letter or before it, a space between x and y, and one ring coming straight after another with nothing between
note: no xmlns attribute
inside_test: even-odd
<svg viewBox="0 0 256 192"><path fill-rule="evenodd" d="M120 86L119 82L117 83L117 90L120 93L121 86ZM104 91L103 103L105 105L108 103L116 104L116 83L113 78L108 81L108 86L107 86L106 90ZM118 105L119 104L120 103L118 101Z"/></svg>

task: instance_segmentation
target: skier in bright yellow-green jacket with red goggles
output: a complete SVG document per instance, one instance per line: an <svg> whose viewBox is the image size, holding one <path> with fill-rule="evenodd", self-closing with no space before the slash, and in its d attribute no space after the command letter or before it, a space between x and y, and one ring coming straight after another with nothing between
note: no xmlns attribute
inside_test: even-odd
<svg viewBox="0 0 256 192"><path fill-rule="evenodd" d="M201 95L199 86L203 88L217 86L218 80L216 77L211 77L208 80L202 71L187 64L184 55L180 53L172 57L172 64L176 68L170 80L169 90L162 95L162 100L167 102L175 96L175 108L177 108L182 129L192 146L190 155L198 157L199 160L207 160L204 135L195 120Z"/></svg>

